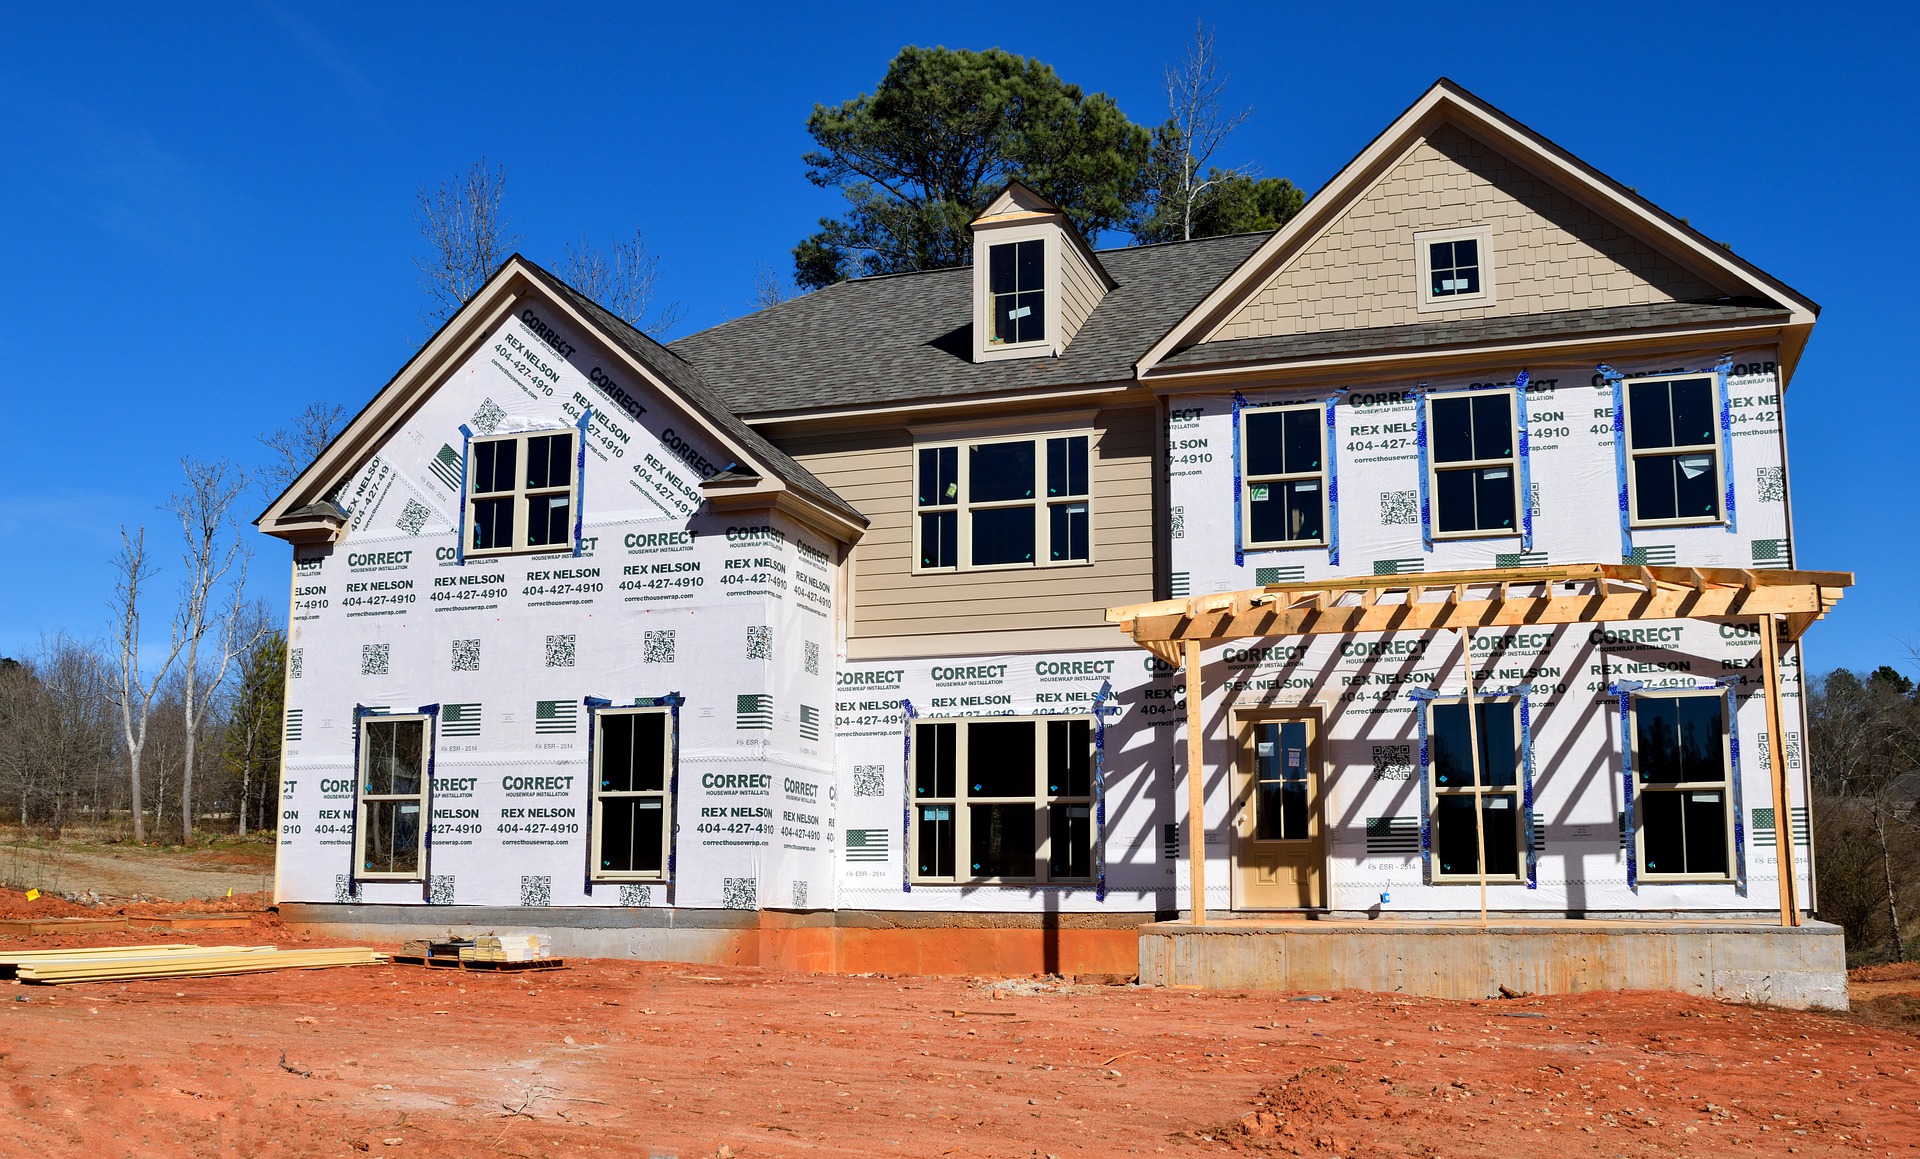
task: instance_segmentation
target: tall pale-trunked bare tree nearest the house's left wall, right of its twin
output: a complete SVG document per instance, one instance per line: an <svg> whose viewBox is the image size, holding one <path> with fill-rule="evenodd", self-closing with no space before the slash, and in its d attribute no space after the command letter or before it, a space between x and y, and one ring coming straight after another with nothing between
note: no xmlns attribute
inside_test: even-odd
<svg viewBox="0 0 1920 1159"><path fill-rule="evenodd" d="M180 840L194 837L194 762L200 729L205 723L213 693L227 683L227 670L236 656L248 652L261 627L246 620L248 551L234 526L234 499L246 491L246 472L215 461L182 459L186 487L167 501L180 520L186 537L186 581L180 585L180 608L175 614L175 639L184 647L180 668L180 723L186 752L180 766ZM202 666L202 647L211 650Z"/></svg>

